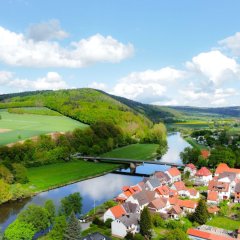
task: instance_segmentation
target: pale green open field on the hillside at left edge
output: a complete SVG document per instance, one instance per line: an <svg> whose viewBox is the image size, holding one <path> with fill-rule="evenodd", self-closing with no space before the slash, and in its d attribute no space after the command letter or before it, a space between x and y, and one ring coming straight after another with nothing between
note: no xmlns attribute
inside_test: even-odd
<svg viewBox="0 0 240 240"><path fill-rule="evenodd" d="M47 116L37 114L15 114L0 110L0 145L51 133L71 131L86 125L65 116ZM7 129L8 131L4 131Z"/></svg>

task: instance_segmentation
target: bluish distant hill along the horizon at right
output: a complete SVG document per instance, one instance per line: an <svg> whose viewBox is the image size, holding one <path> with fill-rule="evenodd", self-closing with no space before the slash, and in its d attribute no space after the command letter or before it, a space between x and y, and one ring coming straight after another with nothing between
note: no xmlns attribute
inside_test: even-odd
<svg viewBox="0 0 240 240"><path fill-rule="evenodd" d="M188 115L219 115L224 117L240 117L240 106L234 107L217 107L217 108L204 108L204 107L189 107L189 106L171 106L169 107L178 112Z"/></svg>

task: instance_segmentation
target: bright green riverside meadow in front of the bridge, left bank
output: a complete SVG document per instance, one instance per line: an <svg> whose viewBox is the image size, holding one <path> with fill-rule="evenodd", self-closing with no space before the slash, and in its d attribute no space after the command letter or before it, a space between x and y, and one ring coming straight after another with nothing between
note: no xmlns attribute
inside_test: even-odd
<svg viewBox="0 0 240 240"><path fill-rule="evenodd" d="M117 164L92 163L79 160L28 168L30 182L26 187L30 188L31 191L39 192L66 183L97 176L115 170L117 167L119 167Z"/></svg>

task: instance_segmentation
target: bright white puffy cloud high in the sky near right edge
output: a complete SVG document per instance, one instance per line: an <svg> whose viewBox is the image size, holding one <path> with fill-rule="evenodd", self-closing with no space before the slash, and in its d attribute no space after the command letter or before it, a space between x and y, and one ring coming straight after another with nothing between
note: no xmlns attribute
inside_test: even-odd
<svg viewBox="0 0 240 240"><path fill-rule="evenodd" d="M225 56L218 50L200 53L186 63L190 72L206 77L213 84L219 84L229 77L240 77L236 60Z"/></svg>

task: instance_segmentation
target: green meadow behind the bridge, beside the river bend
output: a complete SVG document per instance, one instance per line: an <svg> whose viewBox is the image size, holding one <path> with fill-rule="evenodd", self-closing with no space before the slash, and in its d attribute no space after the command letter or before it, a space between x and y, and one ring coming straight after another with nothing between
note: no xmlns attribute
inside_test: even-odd
<svg viewBox="0 0 240 240"><path fill-rule="evenodd" d="M105 153L103 157L150 160L156 156L158 144L132 144Z"/></svg>

